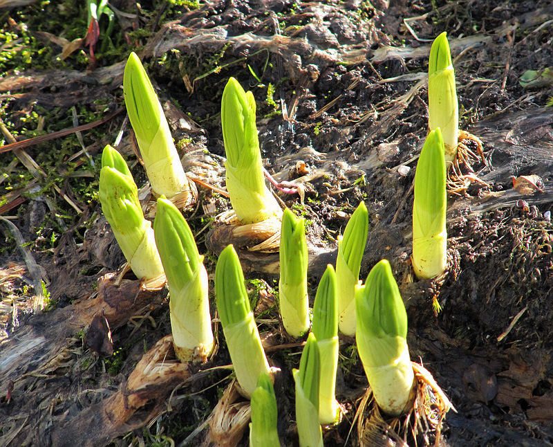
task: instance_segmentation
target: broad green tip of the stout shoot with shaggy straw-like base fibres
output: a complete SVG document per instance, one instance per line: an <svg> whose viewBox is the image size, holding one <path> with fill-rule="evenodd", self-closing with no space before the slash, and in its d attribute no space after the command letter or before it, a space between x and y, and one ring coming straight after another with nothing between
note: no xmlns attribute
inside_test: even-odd
<svg viewBox="0 0 553 447"><path fill-rule="evenodd" d="M357 295L357 325L373 338L407 336L407 312L386 259L368 273L363 293Z"/></svg>

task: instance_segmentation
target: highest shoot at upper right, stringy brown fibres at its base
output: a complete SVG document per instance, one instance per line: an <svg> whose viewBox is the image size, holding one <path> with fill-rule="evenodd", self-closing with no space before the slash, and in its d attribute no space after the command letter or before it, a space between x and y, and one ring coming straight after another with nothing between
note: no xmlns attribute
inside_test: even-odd
<svg viewBox="0 0 553 447"><path fill-rule="evenodd" d="M435 38L428 66L429 129L442 129L445 160L452 162L457 156L459 138L459 102L455 85L455 71L447 33Z"/></svg>

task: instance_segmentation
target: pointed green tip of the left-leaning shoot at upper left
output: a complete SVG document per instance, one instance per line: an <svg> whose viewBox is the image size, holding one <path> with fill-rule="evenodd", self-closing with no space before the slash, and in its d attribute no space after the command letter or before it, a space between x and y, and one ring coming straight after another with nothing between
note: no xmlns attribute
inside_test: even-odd
<svg viewBox="0 0 553 447"><path fill-rule="evenodd" d="M123 93L137 139L151 143L160 127L161 105L140 58L134 52L126 61Z"/></svg>

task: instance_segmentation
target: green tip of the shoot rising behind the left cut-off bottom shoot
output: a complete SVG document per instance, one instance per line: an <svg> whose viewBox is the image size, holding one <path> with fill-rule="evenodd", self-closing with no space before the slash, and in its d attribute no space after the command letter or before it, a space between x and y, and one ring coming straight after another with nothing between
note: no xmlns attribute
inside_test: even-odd
<svg viewBox="0 0 553 447"><path fill-rule="evenodd" d="M244 274L234 246L227 246L215 267L215 298L223 327L241 322L250 313Z"/></svg>

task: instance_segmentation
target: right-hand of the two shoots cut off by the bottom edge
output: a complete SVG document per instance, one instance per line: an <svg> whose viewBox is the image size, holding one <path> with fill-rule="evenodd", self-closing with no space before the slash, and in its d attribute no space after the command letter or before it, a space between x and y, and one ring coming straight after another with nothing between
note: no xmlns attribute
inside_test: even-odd
<svg viewBox="0 0 553 447"><path fill-rule="evenodd" d="M296 422L299 447L323 447L319 423L319 374L321 359L317 339L311 333L303 347L299 370L292 370L296 383Z"/></svg>

